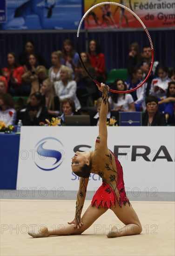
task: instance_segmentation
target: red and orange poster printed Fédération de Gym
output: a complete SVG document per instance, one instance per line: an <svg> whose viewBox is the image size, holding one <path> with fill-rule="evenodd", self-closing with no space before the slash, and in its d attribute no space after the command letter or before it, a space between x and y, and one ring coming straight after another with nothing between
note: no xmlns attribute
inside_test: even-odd
<svg viewBox="0 0 175 256"><path fill-rule="evenodd" d="M104 0L84 0L84 13L90 7L104 2ZM128 7L148 27L175 27L175 0L114 0ZM140 22L128 10L117 5L104 4L92 9L86 16L86 29L99 28L137 28Z"/></svg>

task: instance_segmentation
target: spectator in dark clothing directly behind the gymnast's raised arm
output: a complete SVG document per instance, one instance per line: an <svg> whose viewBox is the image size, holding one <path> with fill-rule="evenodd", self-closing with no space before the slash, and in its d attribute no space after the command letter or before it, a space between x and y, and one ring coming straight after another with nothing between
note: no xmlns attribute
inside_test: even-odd
<svg viewBox="0 0 175 256"><path fill-rule="evenodd" d="M98 126L99 125L99 118L100 118L100 109L101 109L102 98L99 98L96 101L96 110L90 111L90 122L91 126ZM118 111L111 111L110 103L108 102L108 114L107 114L107 121L110 121L110 118L116 120L116 124L119 124L119 112Z"/></svg>

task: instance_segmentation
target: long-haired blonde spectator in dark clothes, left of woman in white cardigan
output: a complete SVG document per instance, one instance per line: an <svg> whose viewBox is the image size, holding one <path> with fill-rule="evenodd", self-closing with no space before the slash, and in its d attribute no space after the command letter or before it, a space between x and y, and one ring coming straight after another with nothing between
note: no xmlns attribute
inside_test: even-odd
<svg viewBox="0 0 175 256"><path fill-rule="evenodd" d="M50 81L49 78L42 82L41 94L43 101L47 107L49 117L56 117L60 113L60 100L55 93L54 82Z"/></svg>

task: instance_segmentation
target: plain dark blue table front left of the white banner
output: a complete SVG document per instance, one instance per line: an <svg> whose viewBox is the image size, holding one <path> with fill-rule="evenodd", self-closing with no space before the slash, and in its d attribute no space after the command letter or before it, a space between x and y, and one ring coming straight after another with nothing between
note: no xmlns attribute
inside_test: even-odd
<svg viewBox="0 0 175 256"><path fill-rule="evenodd" d="M16 189L20 135L0 134L0 189Z"/></svg>

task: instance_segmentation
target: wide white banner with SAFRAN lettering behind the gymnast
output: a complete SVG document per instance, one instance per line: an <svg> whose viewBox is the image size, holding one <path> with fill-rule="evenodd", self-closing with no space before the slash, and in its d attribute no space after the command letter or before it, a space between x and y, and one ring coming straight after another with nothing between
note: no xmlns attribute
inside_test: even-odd
<svg viewBox="0 0 175 256"><path fill-rule="evenodd" d="M22 127L17 189L78 190L76 151L94 150L98 127ZM108 127L108 148L123 167L127 191L175 191L175 127ZM88 190L101 185L91 175Z"/></svg>

